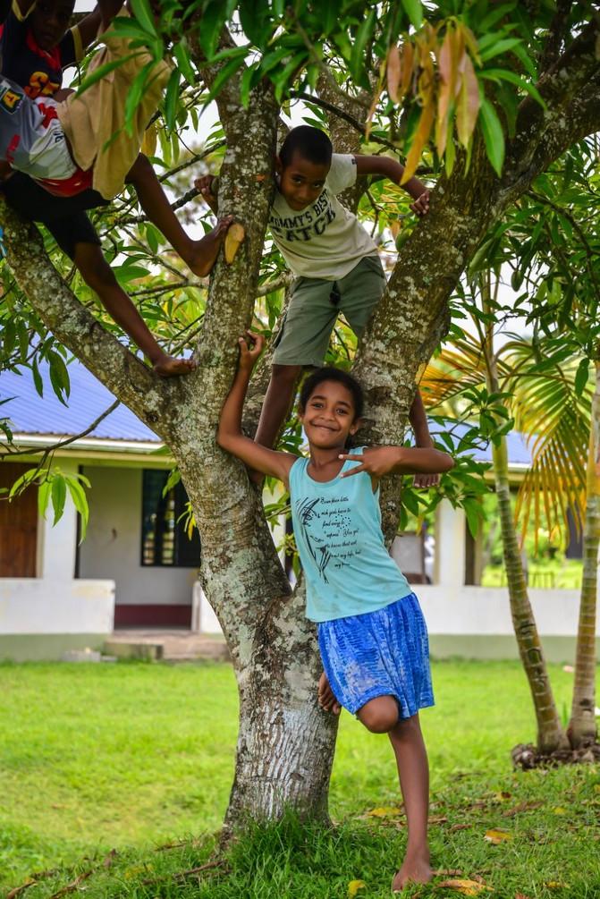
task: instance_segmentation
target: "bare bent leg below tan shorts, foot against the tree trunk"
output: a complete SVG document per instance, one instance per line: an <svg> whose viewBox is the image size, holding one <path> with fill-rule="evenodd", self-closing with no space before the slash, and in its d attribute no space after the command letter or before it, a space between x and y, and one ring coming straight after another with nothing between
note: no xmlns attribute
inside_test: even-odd
<svg viewBox="0 0 600 899"><path fill-rule="evenodd" d="M181 227L181 223L171 209L169 200L156 177L154 168L144 154L140 153L137 156L136 162L129 169L126 182L133 184L136 188L137 197L146 216L163 232L183 262L190 266L195 275L204 278L216 263L216 256L225 239L227 228L233 221L233 216L222 218L216 227L201 240L192 240Z"/></svg>

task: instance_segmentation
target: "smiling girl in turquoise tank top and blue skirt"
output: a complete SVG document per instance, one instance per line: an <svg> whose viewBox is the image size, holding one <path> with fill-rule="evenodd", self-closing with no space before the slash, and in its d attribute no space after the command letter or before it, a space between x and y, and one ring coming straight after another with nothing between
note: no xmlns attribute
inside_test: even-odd
<svg viewBox="0 0 600 899"><path fill-rule="evenodd" d="M225 400L217 442L252 469L278 477L290 494L296 546L306 578L306 616L317 622L324 672L322 708L340 706L375 734L388 734L408 823L398 892L431 879L428 760L419 708L433 705L428 636L419 601L384 546L379 481L391 472L437 474L453 460L437 449L346 449L360 426L356 378L318 369L304 381L300 419L309 458L268 449L242 433L243 401L262 338L240 338L240 363Z"/></svg>

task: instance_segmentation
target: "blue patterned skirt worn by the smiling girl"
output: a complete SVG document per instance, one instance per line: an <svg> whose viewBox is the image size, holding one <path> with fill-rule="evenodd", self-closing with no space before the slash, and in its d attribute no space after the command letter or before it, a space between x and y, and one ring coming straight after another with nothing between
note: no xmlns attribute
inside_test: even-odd
<svg viewBox="0 0 600 899"><path fill-rule="evenodd" d="M400 718L434 705L425 619L414 593L384 609L319 624L319 649L333 695L356 715L393 696Z"/></svg>

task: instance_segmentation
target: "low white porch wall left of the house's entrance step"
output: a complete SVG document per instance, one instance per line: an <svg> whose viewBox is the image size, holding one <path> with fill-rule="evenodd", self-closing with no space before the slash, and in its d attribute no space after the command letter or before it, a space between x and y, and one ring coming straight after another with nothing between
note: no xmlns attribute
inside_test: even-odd
<svg viewBox="0 0 600 899"><path fill-rule="evenodd" d="M112 632L114 581L0 579L0 659L59 659Z"/></svg>

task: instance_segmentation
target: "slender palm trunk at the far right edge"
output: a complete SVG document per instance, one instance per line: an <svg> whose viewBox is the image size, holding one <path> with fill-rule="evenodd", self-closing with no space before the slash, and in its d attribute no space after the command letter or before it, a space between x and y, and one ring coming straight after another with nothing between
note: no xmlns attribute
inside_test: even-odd
<svg viewBox="0 0 600 899"><path fill-rule="evenodd" d="M600 359L596 359L587 455L587 503L583 532L583 578L569 740L574 748L596 742L596 596L600 547Z"/></svg>

